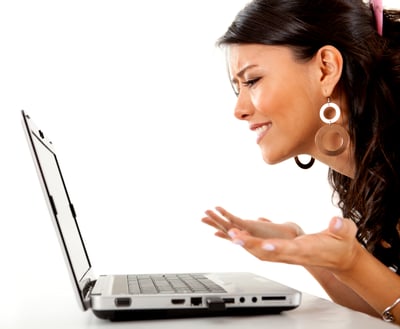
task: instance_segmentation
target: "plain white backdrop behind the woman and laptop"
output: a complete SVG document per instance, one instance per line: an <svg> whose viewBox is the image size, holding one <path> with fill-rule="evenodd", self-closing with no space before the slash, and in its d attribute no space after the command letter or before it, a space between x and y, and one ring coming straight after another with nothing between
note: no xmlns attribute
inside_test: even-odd
<svg viewBox="0 0 400 329"><path fill-rule="evenodd" d="M252 271L325 296L304 269L263 263L200 222L221 205L316 232L339 214L324 165L266 165L233 117L215 41L245 3L0 2L3 295L24 287L75 303L23 135L24 109L59 152L98 274ZM2 310L17 312L20 301L9 301Z"/></svg>

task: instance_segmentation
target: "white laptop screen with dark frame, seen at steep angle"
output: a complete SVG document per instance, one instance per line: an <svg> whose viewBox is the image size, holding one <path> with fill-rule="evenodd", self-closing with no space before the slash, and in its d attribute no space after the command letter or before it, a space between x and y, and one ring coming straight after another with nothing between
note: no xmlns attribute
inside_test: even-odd
<svg viewBox="0 0 400 329"><path fill-rule="evenodd" d="M75 211L69 200L56 155L42 142L41 136L37 136L32 130L30 134L56 225L61 233L61 240L75 280L79 282L90 269L90 261L75 220Z"/></svg>

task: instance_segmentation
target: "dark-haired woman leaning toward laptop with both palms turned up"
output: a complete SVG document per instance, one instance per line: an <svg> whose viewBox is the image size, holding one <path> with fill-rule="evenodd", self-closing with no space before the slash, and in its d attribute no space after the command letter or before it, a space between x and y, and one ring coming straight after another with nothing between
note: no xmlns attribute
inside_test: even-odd
<svg viewBox="0 0 400 329"><path fill-rule="evenodd" d="M309 235L220 207L202 221L261 260L303 265L333 301L400 323L400 12L381 8L254 0L219 40L235 116L265 162L327 164L343 218Z"/></svg>

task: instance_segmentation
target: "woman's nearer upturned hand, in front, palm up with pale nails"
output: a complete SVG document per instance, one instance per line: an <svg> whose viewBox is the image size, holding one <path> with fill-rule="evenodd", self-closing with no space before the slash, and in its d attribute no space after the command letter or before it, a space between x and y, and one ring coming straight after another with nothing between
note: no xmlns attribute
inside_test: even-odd
<svg viewBox="0 0 400 329"><path fill-rule="evenodd" d="M228 234L234 243L261 260L322 267L339 274L357 261L361 246L356 231L353 221L334 217L328 229L295 239L260 239L237 228Z"/></svg>

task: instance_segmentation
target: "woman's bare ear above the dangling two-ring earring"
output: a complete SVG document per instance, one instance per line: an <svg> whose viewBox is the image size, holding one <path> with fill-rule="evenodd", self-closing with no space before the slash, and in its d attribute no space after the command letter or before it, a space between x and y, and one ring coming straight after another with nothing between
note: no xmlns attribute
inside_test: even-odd
<svg viewBox="0 0 400 329"><path fill-rule="evenodd" d="M322 93L324 97L329 97L333 94L342 75L342 54L333 46L324 46L318 50L316 62L319 67Z"/></svg>

